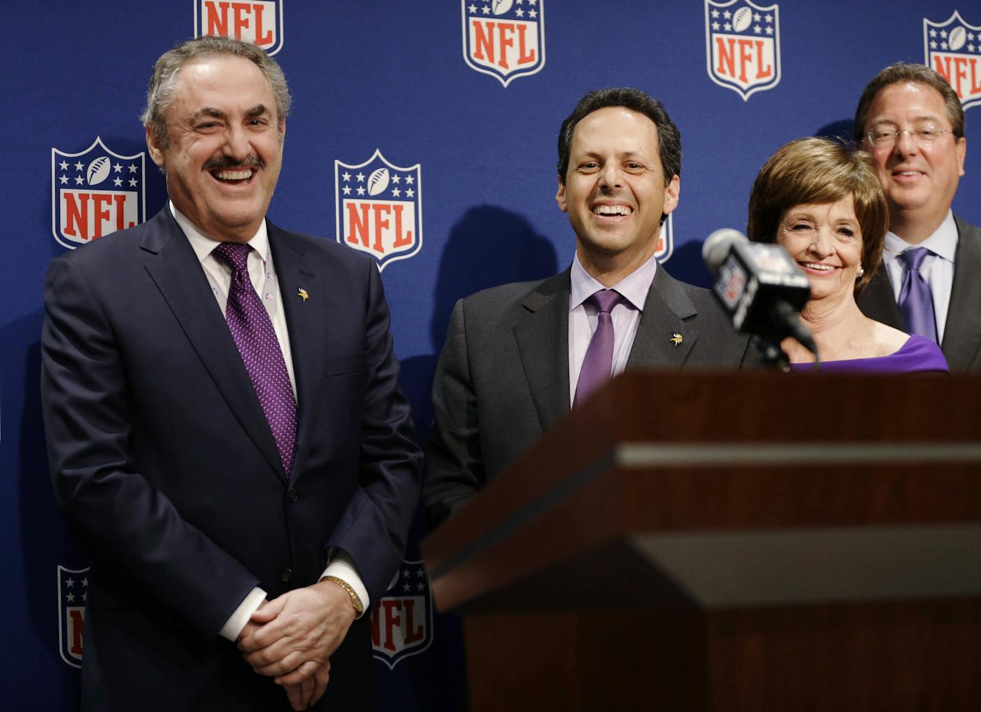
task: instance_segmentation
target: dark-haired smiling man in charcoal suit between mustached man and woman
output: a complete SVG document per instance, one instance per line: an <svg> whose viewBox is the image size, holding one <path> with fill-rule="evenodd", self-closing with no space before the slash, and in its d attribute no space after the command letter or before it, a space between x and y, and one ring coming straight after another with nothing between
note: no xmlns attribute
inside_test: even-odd
<svg viewBox="0 0 981 712"><path fill-rule="evenodd" d="M558 207L576 233L565 272L460 300L433 387L423 501L442 521L602 381L638 366L737 367L747 338L705 289L654 253L677 206L681 135L638 89L587 94L563 122Z"/></svg>

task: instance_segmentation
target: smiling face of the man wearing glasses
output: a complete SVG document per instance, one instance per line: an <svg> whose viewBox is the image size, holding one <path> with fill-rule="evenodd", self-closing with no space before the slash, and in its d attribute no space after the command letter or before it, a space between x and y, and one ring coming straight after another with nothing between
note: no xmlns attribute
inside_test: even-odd
<svg viewBox="0 0 981 712"><path fill-rule="evenodd" d="M914 81L882 88L869 105L868 117L866 132L878 127L903 130L923 125L951 129L940 92ZM957 180L964 175L965 138L945 132L932 144L920 145L904 130L891 145L874 146L866 139L861 147L875 159L894 222L921 218L940 225L954 200Z"/></svg>

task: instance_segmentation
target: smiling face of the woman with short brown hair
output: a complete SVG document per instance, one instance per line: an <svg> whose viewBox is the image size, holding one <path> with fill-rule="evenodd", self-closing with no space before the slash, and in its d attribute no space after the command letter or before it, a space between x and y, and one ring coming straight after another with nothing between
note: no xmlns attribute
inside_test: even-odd
<svg viewBox="0 0 981 712"><path fill-rule="evenodd" d="M837 203L790 208L780 219L777 243L807 275L811 300L854 292L862 239L851 195Z"/></svg>

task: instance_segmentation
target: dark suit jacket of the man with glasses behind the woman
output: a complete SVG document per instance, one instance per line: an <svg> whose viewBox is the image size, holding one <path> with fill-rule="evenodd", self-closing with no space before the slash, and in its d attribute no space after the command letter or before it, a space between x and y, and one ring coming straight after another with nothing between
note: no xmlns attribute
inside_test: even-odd
<svg viewBox="0 0 981 712"><path fill-rule="evenodd" d="M981 229L956 216L954 220L954 284L940 348L952 372L981 371ZM858 307L869 319L907 331L885 267L876 271L858 295Z"/></svg>

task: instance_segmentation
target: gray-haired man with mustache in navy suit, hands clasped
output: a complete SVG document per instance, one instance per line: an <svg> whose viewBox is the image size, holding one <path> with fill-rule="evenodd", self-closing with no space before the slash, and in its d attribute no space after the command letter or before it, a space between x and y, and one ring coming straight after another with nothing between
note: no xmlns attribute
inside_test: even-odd
<svg viewBox="0 0 981 712"><path fill-rule="evenodd" d="M362 615L421 453L375 264L266 219L289 101L255 45L165 53L143 121L168 204L49 268L49 459L92 557L82 709L372 708Z"/></svg>

